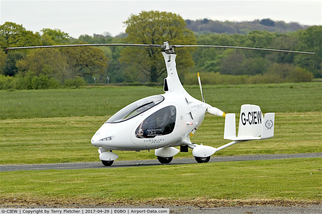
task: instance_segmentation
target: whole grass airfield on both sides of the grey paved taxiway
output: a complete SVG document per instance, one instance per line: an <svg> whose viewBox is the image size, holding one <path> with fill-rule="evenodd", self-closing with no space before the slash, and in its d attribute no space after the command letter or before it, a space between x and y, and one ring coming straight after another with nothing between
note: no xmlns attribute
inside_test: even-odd
<svg viewBox="0 0 322 214"><path fill-rule="evenodd" d="M207 103L237 113L236 120L245 103L259 105L264 113L276 112L273 138L238 143L214 155L321 152L321 86L321 82L203 86ZM201 97L199 87L186 90ZM0 164L99 161L97 149L90 144L96 130L127 104L162 93L157 87L0 91ZM221 146L229 142L223 140L223 128L223 118L207 114L191 141ZM154 151L115 152L119 160L156 158ZM180 157L192 157L191 150L175 156ZM13 199L25 204L166 204L181 200L198 206L216 199L321 204L321 167L321 158L298 158L0 172L0 204Z"/></svg>

